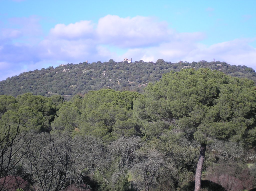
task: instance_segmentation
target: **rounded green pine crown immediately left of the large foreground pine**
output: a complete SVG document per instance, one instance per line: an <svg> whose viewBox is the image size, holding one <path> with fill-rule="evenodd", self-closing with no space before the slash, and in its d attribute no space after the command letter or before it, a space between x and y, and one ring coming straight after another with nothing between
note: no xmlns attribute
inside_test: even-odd
<svg viewBox="0 0 256 191"><path fill-rule="evenodd" d="M123 135L137 135L137 124L129 119L132 118L133 101L139 96L137 92L111 89L88 92L83 98L79 130L106 142Z"/></svg>

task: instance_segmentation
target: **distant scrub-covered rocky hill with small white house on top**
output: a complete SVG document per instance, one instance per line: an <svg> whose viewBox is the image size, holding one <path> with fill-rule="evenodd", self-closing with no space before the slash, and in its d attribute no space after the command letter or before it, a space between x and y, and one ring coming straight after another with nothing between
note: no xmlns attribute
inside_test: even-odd
<svg viewBox="0 0 256 191"><path fill-rule="evenodd" d="M164 73L179 71L183 68L210 68L225 74L246 77L256 82L256 73L247 66L230 65L226 62L165 62L158 59L156 63L135 61L134 63L100 62L88 64L60 65L41 70L28 71L7 78L0 82L0 94L17 96L26 92L36 95L60 94L72 96L85 94L89 90L111 88L114 90L133 90L141 92L148 82L159 80Z"/></svg>

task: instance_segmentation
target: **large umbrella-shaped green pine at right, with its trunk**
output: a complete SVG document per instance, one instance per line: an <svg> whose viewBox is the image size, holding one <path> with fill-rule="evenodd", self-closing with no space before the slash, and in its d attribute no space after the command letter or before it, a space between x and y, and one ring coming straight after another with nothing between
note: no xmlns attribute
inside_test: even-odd
<svg viewBox="0 0 256 191"><path fill-rule="evenodd" d="M255 146L255 93L251 80L216 70L185 69L166 74L155 85L149 85L144 100L135 102L134 116L148 136L177 129L187 139L200 143L195 175L195 190L199 190L206 146L213 138Z"/></svg>

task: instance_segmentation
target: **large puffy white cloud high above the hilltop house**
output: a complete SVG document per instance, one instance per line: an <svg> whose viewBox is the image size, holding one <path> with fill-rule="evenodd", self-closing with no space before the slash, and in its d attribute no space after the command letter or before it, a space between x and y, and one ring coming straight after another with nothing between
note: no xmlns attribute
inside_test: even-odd
<svg viewBox="0 0 256 191"><path fill-rule="evenodd" d="M118 47L152 46L168 41L171 31L166 22L152 17L107 15L99 19L97 34L100 43Z"/></svg>

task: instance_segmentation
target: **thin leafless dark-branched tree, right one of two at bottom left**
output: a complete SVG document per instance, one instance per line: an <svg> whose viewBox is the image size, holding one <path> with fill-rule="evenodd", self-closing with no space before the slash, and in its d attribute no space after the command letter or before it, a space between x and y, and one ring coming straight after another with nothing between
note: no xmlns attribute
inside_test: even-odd
<svg viewBox="0 0 256 191"><path fill-rule="evenodd" d="M49 134L36 135L42 138L40 145L33 140L34 147L27 154L26 171L33 174L32 181L41 191L63 190L75 181L71 168L71 147L69 141L53 141ZM39 146L39 147L37 147Z"/></svg>

